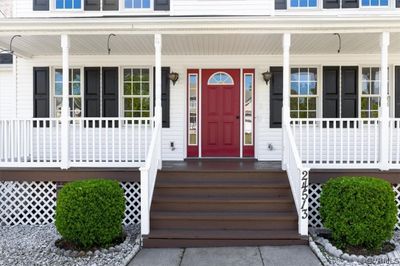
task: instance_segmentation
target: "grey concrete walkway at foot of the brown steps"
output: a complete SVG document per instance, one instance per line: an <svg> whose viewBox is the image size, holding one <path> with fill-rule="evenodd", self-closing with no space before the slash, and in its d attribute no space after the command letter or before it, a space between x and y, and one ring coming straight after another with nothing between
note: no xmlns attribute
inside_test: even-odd
<svg viewBox="0 0 400 266"><path fill-rule="evenodd" d="M129 266L317 266L308 246L143 249Z"/></svg>

